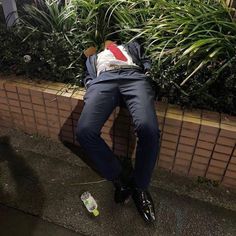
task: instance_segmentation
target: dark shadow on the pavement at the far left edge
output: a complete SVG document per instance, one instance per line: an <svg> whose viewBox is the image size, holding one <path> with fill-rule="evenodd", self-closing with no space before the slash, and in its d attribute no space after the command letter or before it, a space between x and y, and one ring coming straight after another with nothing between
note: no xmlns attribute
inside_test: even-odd
<svg viewBox="0 0 236 236"><path fill-rule="evenodd" d="M34 214L41 217L45 193L39 176L24 160L24 157L19 155L11 146L8 136L0 137L0 164L1 202L10 204L16 209L27 206L27 211L31 212L34 209ZM3 215L1 214L1 216ZM1 216L0 222L3 222ZM34 235L34 229L37 225L37 222L33 221L22 221L20 224L19 222L12 223L15 223L12 227L24 228L24 233L27 236Z"/></svg>

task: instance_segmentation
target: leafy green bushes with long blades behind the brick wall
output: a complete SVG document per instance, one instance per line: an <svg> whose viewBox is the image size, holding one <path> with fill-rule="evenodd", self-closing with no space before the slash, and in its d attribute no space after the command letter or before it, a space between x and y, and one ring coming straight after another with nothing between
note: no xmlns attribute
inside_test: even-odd
<svg viewBox="0 0 236 236"><path fill-rule="evenodd" d="M0 45L0 70L14 65L17 73L78 83L83 50L118 35L143 44L160 99L236 114L236 23L224 1L71 0L63 7L46 0L22 16L5 35L12 41Z"/></svg>

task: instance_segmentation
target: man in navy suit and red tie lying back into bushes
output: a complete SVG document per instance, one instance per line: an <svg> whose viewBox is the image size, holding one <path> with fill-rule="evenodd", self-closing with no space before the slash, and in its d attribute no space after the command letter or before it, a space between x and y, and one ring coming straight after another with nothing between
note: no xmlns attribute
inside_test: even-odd
<svg viewBox="0 0 236 236"><path fill-rule="evenodd" d="M147 81L151 63L137 42L117 45L107 40L102 52L89 56L91 52L95 50L85 51L87 91L77 139L101 175L113 182L115 202L124 203L132 196L144 220L153 222L155 210L148 187L158 154L159 129L154 91ZM120 162L100 137L104 123L119 105L120 98L132 116L138 137L135 166L130 176L125 175Z"/></svg>

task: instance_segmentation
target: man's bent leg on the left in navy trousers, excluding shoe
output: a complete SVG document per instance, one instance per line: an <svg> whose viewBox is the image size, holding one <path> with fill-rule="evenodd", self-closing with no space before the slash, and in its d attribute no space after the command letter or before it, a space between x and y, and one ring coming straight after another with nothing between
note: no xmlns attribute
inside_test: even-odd
<svg viewBox="0 0 236 236"><path fill-rule="evenodd" d="M84 108L78 121L76 136L96 169L107 180L121 173L119 161L100 137L101 129L118 103L117 83L91 85L84 96Z"/></svg>

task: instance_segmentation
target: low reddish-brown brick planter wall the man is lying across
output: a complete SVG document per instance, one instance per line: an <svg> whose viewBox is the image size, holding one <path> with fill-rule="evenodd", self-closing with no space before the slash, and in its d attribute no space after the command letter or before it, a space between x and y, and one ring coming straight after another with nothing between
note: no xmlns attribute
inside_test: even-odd
<svg viewBox="0 0 236 236"><path fill-rule="evenodd" d="M0 76L0 129L11 127L56 140L60 136L78 145L74 131L84 93L61 83ZM236 187L236 117L159 102L156 108L161 130L159 167ZM134 157L136 137L126 109L114 110L102 137L116 154Z"/></svg>

